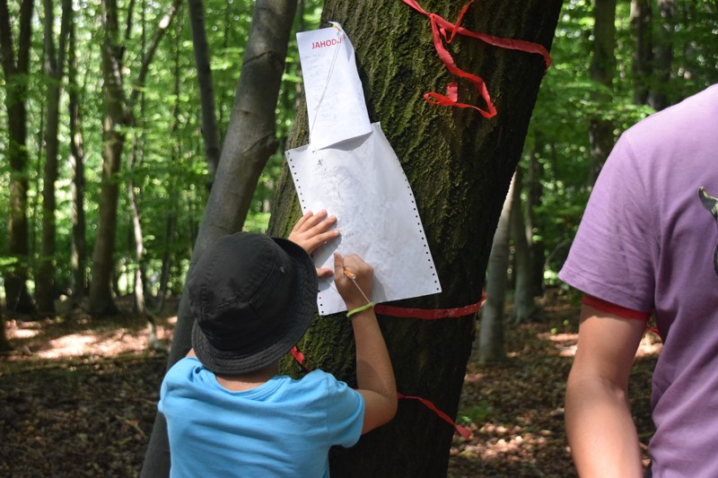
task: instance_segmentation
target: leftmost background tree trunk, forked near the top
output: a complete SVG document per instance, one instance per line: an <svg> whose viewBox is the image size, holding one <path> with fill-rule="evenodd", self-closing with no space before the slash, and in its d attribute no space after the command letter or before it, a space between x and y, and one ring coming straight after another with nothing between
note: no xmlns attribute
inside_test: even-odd
<svg viewBox="0 0 718 478"><path fill-rule="evenodd" d="M5 81L5 109L7 110L8 144L6 154L10 163L10 211L7 220L7 255L15 260L5 272L5 303L15 312L34 311L27 290L27 267L30 260L28 240L28 152L25 101L30 61L32 33L32 0L22 0L20 6L20 37L17 59L13 45L13 30L7 1L0 0L0 52Z"/></svg>

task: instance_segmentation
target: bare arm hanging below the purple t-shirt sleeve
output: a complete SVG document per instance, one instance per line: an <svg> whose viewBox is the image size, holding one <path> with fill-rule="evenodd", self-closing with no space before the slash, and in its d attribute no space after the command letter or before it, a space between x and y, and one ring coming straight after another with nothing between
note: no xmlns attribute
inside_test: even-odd
<svg viewBox="0 0 718 478"><path fill-rule="evenodd" d="M566 433L582 478L643 476L627 390L644 330L643 320L582 308L565 396Z"/></svg>

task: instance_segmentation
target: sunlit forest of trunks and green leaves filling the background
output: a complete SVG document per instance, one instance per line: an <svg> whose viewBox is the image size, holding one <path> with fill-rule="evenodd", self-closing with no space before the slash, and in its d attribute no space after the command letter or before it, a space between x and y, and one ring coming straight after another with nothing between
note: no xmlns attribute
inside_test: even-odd
<svg viewBox="0 0 718 478"><path fill-rule="evenodd" d="M103 4L114 5L116 16ZM153 324L164 301L182 291L254 3L203 5L214 136L200 114L207 70L197 68L191 27L198 3L103 4L0 0L0 303L9 319L57 322L76 310L96 319L124 304ZM300 2L293 30L326 26L321 8L320 1ZM519 324L545 318L553 305L547 298L570 292L556 274L617 136L718 82L718 4L565 1L551 56L507 196L513 213L499 222L509 228L505 242L495 242L503 260L494 255L491 264L499 266L489 268L498 286L487 283L487 306L498 309L499 322L504 294ZM121 104L108 105L103 98L113 83L124 92ZM301 94L291 35L276 106L279 147L261 173L244 230L267 230ZM117 134L119 150L108 151ZM151 339L162 348L152 327ZM0 348L12 345L3 327ZM496 349L483 361L505 353Z"/></svg>

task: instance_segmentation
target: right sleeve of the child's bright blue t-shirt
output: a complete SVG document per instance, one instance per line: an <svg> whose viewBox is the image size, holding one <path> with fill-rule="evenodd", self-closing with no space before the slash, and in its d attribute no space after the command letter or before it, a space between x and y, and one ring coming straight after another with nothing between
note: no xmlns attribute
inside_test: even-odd
<svg viewBox="0 0 718 478"><path fill-rule="evenodd" d="M345 382L328 376L328 436L330 445L352 447L362 436L364 400Z"/></svg>

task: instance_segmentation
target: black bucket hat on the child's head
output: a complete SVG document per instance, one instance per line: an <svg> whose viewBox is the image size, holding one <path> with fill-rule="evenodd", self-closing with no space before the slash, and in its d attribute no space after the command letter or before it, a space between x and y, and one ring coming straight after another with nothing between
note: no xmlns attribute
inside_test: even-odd
<svg viewBox="0 0 718 478"><path fill-rule="evenodd" d="M218 375L279 360L299 342L317 307L311 257L288 239L237 232L218 239L188 280L192 347Z"/></svg>

